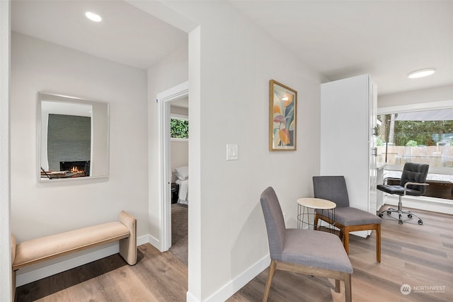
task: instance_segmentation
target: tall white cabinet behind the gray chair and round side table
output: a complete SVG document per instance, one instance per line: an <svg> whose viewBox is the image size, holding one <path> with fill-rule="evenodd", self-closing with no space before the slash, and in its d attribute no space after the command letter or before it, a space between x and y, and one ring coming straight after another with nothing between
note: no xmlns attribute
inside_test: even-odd
<svg viewBox="0 0 453 302"><path fill-rule="evenodd" d="M377 88L368 74L321 84L320 174L344 175L350 206L373 214L376 111Z"/></svg>

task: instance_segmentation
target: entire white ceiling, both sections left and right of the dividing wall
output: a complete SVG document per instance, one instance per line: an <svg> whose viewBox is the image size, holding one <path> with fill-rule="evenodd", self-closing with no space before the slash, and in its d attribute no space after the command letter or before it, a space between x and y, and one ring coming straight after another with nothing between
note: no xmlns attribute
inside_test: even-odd
<svg viewBox="0 0 453 302"><path fill-rule="evenodd" d="M379 95L453 85L453 1L230 2L329 81L371 74ZM123 1L13 0L11 16L14 31L141 69L188 42Z"/></svg>

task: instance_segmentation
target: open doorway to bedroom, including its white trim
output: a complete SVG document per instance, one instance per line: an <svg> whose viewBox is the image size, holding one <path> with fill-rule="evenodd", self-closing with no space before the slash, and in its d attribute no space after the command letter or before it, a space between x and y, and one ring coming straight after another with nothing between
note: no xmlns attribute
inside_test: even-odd
<svg viewBox="0 0 453 302"><path fill-rule="evenodd" d="M169 250L187 265L188 129L185 128L188 126L188 82L158 93L157 102L159 104L159 174L161 180L159 185L160 250L162 252Z"/></svg>

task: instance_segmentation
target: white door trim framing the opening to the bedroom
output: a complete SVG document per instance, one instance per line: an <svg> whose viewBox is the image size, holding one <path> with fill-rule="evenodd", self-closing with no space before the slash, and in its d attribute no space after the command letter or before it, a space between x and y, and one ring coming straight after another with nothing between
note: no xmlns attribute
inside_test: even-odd
<svg viewBox="0 0 453 302"><path fill-rule="evenodd" d="M189 82L157 93L159 106L159 211L161 217L161 252L171 247L171 166L170 166L170 103L189 95Z"/></svg>

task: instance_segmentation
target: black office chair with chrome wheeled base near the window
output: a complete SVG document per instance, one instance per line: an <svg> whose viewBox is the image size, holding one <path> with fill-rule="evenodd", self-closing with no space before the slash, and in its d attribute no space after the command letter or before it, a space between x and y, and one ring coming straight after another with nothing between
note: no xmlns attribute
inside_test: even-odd
<svg viewBox="0 0 453 302"><path fill-rule="evenodd" d="M379 217L382 217L384 212L390 215L392 212L398 213L398 223L403 224L403 214L407 214L408 218L412 216L418 217L418 224L423 224L423 220L411 211L403 210L401 204L401 197L405 195L411 196L422 196L426 192L426 176L430 165L424 163L405 163L403 173L401 174L401 180L399 185L377 185L377 190L399 195L398 209L386 209L379 213Z"/></svg>

